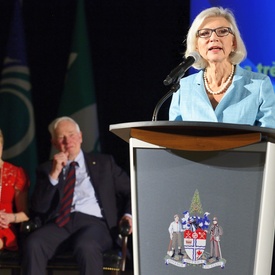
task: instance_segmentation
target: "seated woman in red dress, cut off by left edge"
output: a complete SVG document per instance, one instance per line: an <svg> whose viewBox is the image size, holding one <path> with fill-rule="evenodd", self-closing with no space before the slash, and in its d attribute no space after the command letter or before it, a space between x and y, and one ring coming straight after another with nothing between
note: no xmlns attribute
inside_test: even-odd
<svg viewBox="0 0 275 275"><path fill-rule="evenodd" d="M17 250L14 223L29 219L29 179L21 167L2 160L3 144L0 130L0 250Z"/></svg>

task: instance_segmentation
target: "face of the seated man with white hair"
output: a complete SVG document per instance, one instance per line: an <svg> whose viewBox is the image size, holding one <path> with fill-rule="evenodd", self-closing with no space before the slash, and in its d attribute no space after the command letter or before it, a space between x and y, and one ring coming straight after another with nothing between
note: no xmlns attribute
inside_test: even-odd
<svg viewBox="0 0 275 275"><path fill-rule="evenodd" d="M69 154L69 159L74 159L81 149L82 133L77 131L76 125L68 120L58 123L55 129L53 144L61 151Z"/></svg>

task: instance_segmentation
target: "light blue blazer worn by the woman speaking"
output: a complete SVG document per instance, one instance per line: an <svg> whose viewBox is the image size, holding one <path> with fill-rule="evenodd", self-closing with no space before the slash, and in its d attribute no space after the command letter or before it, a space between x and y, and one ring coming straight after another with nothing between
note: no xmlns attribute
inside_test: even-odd
<svg viewBox="0 0 275 275"><path fill-rule="evenodd" d="M275 128L275 94L270 78L236 66L232 85L213 109L203 71L180 81L173 94L169 120L224 122Z"/></svg>

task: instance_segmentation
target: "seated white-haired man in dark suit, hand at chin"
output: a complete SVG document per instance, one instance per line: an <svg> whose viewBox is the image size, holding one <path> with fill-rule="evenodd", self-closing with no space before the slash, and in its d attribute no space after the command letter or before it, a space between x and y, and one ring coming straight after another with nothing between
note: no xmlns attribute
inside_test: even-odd
<svg viewBox="0 0 275 275"><path fill-rule="evenodd" d="M102 275L102 254L113 245L120 214L132 228L129 177L111 156L81 150L82 133L71 118L56 119L49 130L59 152L37 169L31 211L42 225L26 239L23 274L45 274L48 260L70 238L80 274Z"/></svg>

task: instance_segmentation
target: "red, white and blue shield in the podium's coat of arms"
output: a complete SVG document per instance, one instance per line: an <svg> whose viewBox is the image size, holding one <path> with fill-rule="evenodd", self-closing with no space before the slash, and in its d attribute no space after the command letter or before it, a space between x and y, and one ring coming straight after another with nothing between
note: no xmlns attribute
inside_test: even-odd
<svg viewBox="0 0 275 275"><path fill-rule="evenodd" d="M189 258L198 260L206 246L206 232L202 229L184 231L184 249Z"/></svg>

